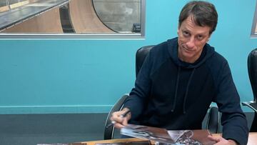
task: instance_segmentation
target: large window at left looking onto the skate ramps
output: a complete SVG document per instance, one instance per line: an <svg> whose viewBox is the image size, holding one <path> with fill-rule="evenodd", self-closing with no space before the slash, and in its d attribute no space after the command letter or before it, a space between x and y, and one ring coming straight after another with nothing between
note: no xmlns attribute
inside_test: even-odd
<svg viewBox="0 0 257 145"><path fill-rule="evenodd" d="M145 0L0 0L1 39L142 38Z"/></svg>

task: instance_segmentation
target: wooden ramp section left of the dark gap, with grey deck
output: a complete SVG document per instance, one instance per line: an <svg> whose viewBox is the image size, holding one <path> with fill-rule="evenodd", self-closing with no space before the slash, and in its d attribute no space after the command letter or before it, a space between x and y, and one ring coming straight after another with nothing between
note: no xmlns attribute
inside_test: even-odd
<svg viewBox="0 0 257 145"><path fill-rule="evenodd" d="M4 33L63 33L59 6L69 0L33 1L0 13L0 31Z"/></svg>

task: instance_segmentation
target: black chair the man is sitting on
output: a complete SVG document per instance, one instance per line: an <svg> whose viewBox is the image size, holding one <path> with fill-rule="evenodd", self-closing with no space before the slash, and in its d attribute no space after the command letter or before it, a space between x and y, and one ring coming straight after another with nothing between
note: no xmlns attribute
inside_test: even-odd
<svg viewBox="0 0 257 145"><path fill-rule="evenodd" d="M151 46L143 46L138 51L136 51L136 76L138 71L141 69L144 59L146 58L148 52L153 48L154 45ZM119 99L119 101L114 104L113 108L109 112L106 125L111 124L110 117L114 111L120 111L124 105L124 101L129 96L129 94L125 94ZM208 114L208 119L206 123L206 129L208 129L211 133L218 133L218 124L219 124L219 114L218 108L216 106L210 106L210 111ZM114 126L110 126L109 128L105 127L104 130L104 139L113 139L114 138Z"/></svg>

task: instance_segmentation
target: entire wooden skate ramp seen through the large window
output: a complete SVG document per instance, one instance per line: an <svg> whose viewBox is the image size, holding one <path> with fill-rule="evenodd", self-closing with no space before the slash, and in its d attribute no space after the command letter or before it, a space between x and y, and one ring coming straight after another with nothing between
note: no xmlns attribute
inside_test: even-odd
<svg viewBox="0 0 257 145"><path fill-rule="evenodd" d="M64 34L61 7L67 7L69 28L67 33L75 34L114 34L99 19L91 0L42 0L29 1L11 11L0 14L0 31L8 34Z"/></svg>

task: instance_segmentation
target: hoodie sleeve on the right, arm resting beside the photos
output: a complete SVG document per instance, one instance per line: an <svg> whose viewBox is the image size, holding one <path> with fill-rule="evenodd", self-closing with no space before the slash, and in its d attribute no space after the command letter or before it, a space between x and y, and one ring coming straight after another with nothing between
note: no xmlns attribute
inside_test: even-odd
<svg viewBox="0 0 257 145"><path fill-rule="evenodd" d="M223 126L223 138L233 139L239 144L247 144L248 126L246 116L240 106L240 98L233 83L228 62L223 61L221 71L216 78L218 94L216 103L222 113L221 125Z"/></svg>

